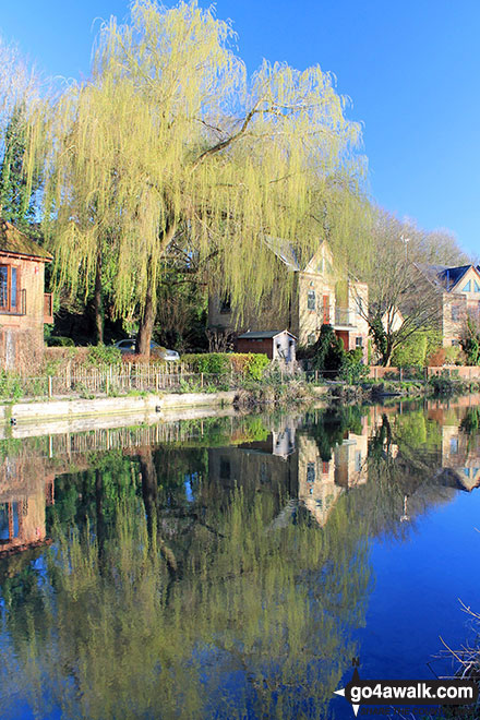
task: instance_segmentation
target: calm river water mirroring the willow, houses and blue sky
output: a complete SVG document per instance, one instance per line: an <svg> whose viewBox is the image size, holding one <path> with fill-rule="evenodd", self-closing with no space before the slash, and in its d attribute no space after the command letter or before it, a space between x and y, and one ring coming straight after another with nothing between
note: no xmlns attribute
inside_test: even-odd
<svg viewBox="0 0 480 720"><path fill-rule="evenodd" d="M0 441L0 717L341 720L353 657L452 672L477 401Z"/></svg>

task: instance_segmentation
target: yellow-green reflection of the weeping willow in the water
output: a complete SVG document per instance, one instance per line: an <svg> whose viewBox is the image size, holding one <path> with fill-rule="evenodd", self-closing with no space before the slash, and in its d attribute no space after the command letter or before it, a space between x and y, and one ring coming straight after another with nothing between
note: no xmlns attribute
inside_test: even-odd
<svg viewBox="0 0 480 720"><path fill-rule="evenodd" d="M49 696L65 717L319 717L363 622L361 524L344 503L327 533L273 530L275 501L238 489L167 544L154 468L141 454L142 500L118 503L108 537L58 526L49 601L22 635L10 627L23 673L13 686L2 673L3 693Z"/></svg>

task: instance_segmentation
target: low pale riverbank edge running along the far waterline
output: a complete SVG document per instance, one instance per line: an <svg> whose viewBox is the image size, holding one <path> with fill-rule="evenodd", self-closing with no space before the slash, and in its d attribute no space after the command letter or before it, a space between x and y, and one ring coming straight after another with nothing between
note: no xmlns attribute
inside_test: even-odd
<svg viewBox="0 0 480 720"><path fill-rule="evenodd" d="M25 399L0 405L0 437L9 436L12 427L33 423L75 422L77 430L87 429L88 419L121 418L129 416L133 422L145 419L192 419L220 409L251 410L265 406L310 405L362 405L387 398L415 399L436 392L448 397L455 394L478 392L478 383L466 385L451 379L431 379L422 382L367 382L359 385L326 383L316 385L292 377L284 383L249 383L244 387L218 392L196 393L140 393L116 397L105 395L81 398L57 397ZM199 415L199 409L201 410ZM2 427L3 425L3 427ZM11 436L11 435L10 435Z"/></svg>

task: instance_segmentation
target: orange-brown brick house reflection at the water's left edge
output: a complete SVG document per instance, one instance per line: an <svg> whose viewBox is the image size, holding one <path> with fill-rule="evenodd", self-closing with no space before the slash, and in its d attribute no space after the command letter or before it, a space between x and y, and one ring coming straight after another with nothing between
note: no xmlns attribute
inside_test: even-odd
<svg viewBox="0 0 480 720"><path fill-rule="evenodd" d="M0 466L0 557L46 540L46 506L53 503L55 475L39 457L9 457Z"/></svg>

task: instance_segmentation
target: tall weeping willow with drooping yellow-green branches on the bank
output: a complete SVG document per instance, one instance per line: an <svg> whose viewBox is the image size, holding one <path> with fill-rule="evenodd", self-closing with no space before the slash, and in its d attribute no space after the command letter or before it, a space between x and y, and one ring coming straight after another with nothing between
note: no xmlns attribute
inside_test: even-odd
<svg viewBox="0 0 480 720"><path fill-rule="evenodd" d="M95 287L98 310L108 274L117 316L140 313L143 353L175 238L241 309L273 281L265 237L311 256L332 178L362 177L359 125L332 76L264 61L249 77L233 40L196 2L135 0L128 24L103 25L91 80L39 123L57 283Z"/></svg>

